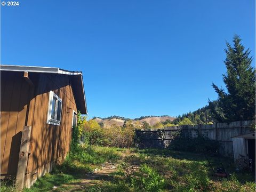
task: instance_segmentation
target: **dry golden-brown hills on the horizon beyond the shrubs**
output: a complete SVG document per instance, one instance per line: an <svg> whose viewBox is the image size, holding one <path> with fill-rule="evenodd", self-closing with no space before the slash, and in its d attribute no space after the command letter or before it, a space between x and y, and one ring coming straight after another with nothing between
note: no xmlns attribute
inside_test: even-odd
<svg viewBox="0 0 256 192"><path fill-rule="evenodd" d="M155 125L158 122L164 122L167 119L173 121L175 118L167 115L163 116L142 116L140 118L130 119L119 116L110 116L106 118L93 117L98 123L103 123L104 126L110 126L113 124L123 126L125 121L131 120L134 124L142 125L142 122L147 122L150 126Z"/></svg>

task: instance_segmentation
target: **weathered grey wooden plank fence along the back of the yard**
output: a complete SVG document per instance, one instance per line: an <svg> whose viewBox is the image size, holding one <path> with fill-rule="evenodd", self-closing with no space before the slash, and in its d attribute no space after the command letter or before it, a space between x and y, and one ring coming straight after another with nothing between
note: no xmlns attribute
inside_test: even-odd
<svg viewBox="0 0 256 192"><path fill-rule="evenodd" d="M179 131L186 138L198 135L218 141L219 153L223 156L233 155L232 137L251 132L252 121L214 123L211 125L181 125L164 127L158 130L136 130L135 140L140 148L167 148L171 145L175 132Z"/></svg>

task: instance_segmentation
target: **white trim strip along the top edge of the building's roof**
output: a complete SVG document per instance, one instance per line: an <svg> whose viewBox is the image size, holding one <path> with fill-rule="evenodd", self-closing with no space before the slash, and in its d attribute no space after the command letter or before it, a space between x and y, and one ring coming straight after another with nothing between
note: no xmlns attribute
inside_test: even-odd
<svg viewBox="0 0 256 192"><path fill-rule="evenodd" d="M54 73L64 75L82 75L80 71L68 71L56 67L35 67L35 66L16 66L16 65L0 65L0 70L6 71L28 71L35 73Z"/></svg>

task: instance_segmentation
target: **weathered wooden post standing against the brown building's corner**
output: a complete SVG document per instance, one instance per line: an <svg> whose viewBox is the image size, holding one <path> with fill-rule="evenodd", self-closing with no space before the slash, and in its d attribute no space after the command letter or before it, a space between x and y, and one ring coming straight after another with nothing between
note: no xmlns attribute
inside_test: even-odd
<svg viewBox="0 0 256 192"><path fill-rule="evenodd" d="M21 143L20 143L19 162L18 162L18 169L17 169L17 175L16 175L16 182L15 182L15 186L18 189L24 188L25 174L26 174L27 163L28 163L30 137L31 137L31 126L24 126L22 131Z"/></svg>

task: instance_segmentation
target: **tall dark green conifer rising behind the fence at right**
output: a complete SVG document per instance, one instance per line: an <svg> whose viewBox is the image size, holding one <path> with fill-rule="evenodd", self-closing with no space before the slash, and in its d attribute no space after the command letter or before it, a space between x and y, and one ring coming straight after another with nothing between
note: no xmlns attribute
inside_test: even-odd
<svg viewBox="0 0 256 192"><path fill-rule="evenodd" d="M219 122L255 119L255 68L251 66L251 51L245 50L237 35L233 43L234 47L227 43L225 49L227 73L223 74L223 82L227 92L213 83L218 103L213 105L209 100L214 118Z"/></svg>

